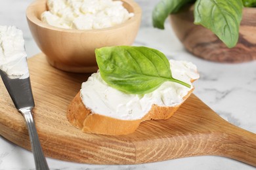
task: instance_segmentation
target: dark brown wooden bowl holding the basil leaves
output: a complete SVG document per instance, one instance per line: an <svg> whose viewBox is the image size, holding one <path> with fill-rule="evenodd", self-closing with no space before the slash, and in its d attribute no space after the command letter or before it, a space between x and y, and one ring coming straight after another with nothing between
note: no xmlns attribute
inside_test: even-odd
<svg viewBox="0 0 256 170"><path fill-rule="evenodd" d="M203 59L223 62L241 63L256 59L256 9L244 8L240 25L238 44L228 48L209 29L194 24L194 5L169 19L173 31L186 50Z"/></svg>

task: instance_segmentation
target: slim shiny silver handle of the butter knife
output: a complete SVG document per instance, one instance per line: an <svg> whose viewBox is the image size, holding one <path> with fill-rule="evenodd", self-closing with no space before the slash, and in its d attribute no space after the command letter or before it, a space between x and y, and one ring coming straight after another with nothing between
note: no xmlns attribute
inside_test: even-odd
<svg viewBox="0 0 256 170"><path fill-rule="evenodd" d="M37 170L48 170L49 167L41 148L37 130L35 128L35 122L33 121L32 109L32 107L26 107L24 109L20 109L19 111L24 116L28 127L28 134L30 136L30 143L35 160L35 168Z"/></svg>

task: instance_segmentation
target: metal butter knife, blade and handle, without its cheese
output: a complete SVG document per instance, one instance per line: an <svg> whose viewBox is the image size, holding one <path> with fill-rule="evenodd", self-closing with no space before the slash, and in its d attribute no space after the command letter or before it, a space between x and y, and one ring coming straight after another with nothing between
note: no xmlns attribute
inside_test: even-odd
<svg viewBox="0 0 256 170"><path fill-rule="evenodd" d="M1 71L1 69L0 74L16 109L22 113L26 120L33 157L35 160L35 168L38 170L49 169L35 128L35 122L33 120L32 110L33 107L35 107L35 103L30 84L30 76L24 79L9 78L9 76L5 72Z"/></svg>

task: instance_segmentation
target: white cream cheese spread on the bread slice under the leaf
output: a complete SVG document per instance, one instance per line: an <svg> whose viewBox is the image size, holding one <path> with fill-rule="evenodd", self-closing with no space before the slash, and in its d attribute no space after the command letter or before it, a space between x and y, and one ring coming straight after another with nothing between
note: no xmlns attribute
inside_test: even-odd
<svg viewBox="0 0 256 170"><path fill-rule="evenodd" d="M138 120L145 116L152 105L174 107L193 88L190 80L199 78L196 65L187 61L169 60L173 78L191 85L187 88L176 82L164 82L154 92L144 95L123 93L102 80L100 73L93 73L80 90L81 99L87 109L121 120Z"/></svg>

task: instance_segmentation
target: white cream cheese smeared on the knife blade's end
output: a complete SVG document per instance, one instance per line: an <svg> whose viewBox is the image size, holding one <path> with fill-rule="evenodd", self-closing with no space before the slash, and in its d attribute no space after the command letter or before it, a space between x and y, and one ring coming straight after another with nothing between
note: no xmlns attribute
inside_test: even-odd
<svg viewBox="0 0 256 170"><path fill-rule="evenodd" d="M28 78L23 33L14 26L0 25L0 69L9 78Z"/></svg>

